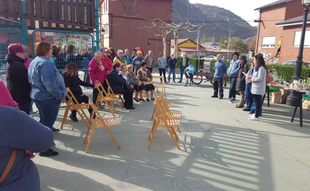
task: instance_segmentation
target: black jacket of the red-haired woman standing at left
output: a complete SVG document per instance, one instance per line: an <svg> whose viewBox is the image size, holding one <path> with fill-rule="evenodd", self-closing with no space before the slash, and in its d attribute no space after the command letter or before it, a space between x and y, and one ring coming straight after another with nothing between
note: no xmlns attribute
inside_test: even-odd
<svg viewBox="0 0 310 191"><path fill-rule="evenodd" d="M31 85L28 82L28 71L24 65L25 60L15 55L5 57L5 75L7 89L17 103L31 101Z"/></svg>

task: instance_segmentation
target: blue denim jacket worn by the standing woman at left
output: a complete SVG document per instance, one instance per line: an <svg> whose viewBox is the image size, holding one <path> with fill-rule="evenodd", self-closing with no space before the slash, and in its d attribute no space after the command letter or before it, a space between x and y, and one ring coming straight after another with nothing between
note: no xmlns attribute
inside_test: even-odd
<svg viewBox="0 0 310 191"><path fill-rule="evenodd" d="M63 76L46 57L37 56L28 69L30 97L35 100L65 98L67 91Z"/></svg>

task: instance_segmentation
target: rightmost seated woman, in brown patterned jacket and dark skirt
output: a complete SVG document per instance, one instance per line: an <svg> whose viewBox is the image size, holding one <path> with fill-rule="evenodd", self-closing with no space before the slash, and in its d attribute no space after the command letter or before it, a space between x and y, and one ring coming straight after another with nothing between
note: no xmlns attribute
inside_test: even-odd
<svg viewBox="0 0 310 191"><path fill-rule="evenodd" d="M155 101L154 99L154 90L155 87L153 85L153 77L150 70L147 69L147 63L142 62L141 68L137 72L138 79L142 81L144 84L144 89L147 92L147 101L150 101L149 92L151 91L151 100ZM145 101L144 99L139 99L140 101Z"/></svg>

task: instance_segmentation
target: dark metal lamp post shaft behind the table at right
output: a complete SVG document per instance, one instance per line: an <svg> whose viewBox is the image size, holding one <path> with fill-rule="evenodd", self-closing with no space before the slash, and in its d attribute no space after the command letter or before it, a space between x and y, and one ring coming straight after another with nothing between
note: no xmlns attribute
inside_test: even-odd
<svg viewBox="0 0 310 191"><path fill-rule="evenodd" d="M302 67L303 67L303 52L304 52L304 43L305 43L305 34L306 34L306 25L307 25L307 17L308 17L308 6L304 9L304 22L303 22L303 28L302 28L302 34L301 34L301 41L299 45L299 51L297 56L297 61L295 65L295 72L293 79L301 79L302 75Z"/></svg>

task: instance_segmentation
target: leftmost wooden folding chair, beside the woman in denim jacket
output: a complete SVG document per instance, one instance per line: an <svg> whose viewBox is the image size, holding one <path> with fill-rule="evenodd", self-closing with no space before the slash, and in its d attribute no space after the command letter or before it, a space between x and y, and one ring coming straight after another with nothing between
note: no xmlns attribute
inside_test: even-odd
<svg viewBox="0 0 310 191"><path fill-rule="evenodd" d="M72 93L69 87L67 87L66 97L68 98L68 101L65 100L65 103L67 104L67 106L66 106L65 114L64 114L60 129L63 129L64 124L66 123L66 120L68 117L68 113L69 111L72 111L72 110L77 110L77 113L79 117L81 118L82 122L85 124L86 127L88 127L91 121L89 120L89 118L87 117L86 113L83 110L89 109L89 104L78 103L77 98L74 96L74 94Z"/></svg>

